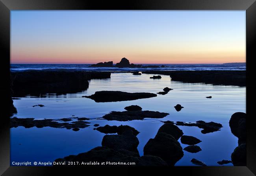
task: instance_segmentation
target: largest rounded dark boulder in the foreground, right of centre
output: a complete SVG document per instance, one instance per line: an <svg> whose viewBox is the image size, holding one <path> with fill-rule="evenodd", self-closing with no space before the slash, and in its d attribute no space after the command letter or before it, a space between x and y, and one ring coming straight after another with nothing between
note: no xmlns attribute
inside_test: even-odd
<svg viewBox="0 0 256 176"><path fill-rule="evenodd" d="M158 156L170 166L184 155L180 143L167 133L157 133L154 139L149 139L143 151L144 155Z"/></svg>

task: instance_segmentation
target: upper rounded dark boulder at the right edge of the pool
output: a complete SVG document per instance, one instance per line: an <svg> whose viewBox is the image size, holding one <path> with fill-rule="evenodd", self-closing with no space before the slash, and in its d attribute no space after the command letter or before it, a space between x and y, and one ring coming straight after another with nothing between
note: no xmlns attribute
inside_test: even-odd
<svg viewBox="0 0 256 176"><path fill-rule="evenodd" d="M242 112L234 113L229 120L230 130L236 137L239 137L238 128L239 128L239 120L241 119L246 120L246 113L242 113ZM240 128L240 130L242 130L242 128Z"/></svg>

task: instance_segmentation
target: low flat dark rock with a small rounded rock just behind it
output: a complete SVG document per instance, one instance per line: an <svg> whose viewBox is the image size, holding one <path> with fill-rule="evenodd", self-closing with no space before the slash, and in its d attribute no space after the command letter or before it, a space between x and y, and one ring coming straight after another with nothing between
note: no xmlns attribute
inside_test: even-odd
<svg viewBox="0 0 256 176"><path fill-rule="evenodd" d="M143 120L144 118L163 118L168 113L160 113L158 111L112 111L104 115L102 118L106 120L128 121Z"/></svg>

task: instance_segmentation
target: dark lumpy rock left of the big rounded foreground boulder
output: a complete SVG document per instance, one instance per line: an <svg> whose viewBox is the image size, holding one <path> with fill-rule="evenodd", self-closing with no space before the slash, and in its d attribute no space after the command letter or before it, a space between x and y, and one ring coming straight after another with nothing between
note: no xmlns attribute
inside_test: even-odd
<svg viewBox="0 0 256 176"><path fill-rule="evenodd" d="M114 150L125 149L136 152L139 140L132 130L125 130L122 135L105 135L101 144Z"/></svg>

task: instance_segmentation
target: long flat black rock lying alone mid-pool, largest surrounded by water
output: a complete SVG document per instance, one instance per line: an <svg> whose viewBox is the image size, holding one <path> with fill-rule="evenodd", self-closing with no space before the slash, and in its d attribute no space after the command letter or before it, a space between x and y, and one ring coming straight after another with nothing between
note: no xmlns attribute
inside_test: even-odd
<svg viewBox="0 0 256 176"><path fill-rule="evenodd" d="M95 102L119 102L128 100L137 100L142 98L155 97L154 93L128 93L122 91L97 91L90 96L82 96L85 98L91 98Z"/></svg>

